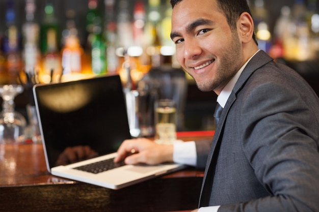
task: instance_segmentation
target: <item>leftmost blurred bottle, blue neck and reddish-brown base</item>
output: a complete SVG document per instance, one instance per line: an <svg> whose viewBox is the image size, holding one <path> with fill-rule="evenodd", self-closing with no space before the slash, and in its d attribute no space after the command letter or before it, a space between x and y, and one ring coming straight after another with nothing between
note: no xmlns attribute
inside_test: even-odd
<svg viewBox="0 0 319 212"><path fill-rule="evenodd" d="M6 32L2 40L5 55L5 68L7 69L8 83L17 83L21 70L20 34L16 25L14 1L7 1Z"/></svg>

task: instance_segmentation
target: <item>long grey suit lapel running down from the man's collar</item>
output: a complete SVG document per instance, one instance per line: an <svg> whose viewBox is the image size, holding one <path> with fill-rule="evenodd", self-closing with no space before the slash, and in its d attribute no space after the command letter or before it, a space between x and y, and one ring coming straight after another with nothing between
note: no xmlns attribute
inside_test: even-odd
<svg viewBox="0 0 319 212"><path fill-rule="evenodd" d="M219 153L219 147L222 140L222 135L224 133L225 121L228 115L228 112L236 100L236 95L242 87L244 86L245 82L249 79L249 77L253 74L255 70L263 66L264 64L269 63L272 61L268 54L264 51L259 51L256 55L250 60L250 62L245 67L243 73L241 74L240 78L238 78L231 95L229 96L226 105L222 111L220 116L218 126L216 126L216 131L214 134L214 138L212 139L210 151L207 157L207 163L205 168L205 173L203 177L203 183L200 193L200 200L199 206L208 206L210 200L210 193L211 193L211 186L214 180L215 175L215 167L217 163L217 157ZM229 129L227 129L229 130Z"/></svg>

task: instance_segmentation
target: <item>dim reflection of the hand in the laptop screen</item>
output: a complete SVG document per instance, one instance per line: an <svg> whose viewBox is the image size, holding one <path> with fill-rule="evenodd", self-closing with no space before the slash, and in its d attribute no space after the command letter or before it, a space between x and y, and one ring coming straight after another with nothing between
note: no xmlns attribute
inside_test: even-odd
<svg viewBox="0 0 319 212"><path fill-rule="evenodd" d="M90 146L72 146L67 147L59 155L56 165L67 165L70 163L94 158L97 153Z"/></svg>

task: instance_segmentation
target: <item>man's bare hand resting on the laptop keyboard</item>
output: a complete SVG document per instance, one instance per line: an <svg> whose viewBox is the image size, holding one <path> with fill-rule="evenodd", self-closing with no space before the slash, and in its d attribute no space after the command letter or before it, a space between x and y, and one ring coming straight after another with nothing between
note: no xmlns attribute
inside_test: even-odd
<svg viewBox="0 0 319 212"><path fill-rule="evenodd" d="M172 162L173 145L157 144L146 138L125 140L119 147L114 162L121 160L124 160L126 164L145 163L149 165Z"/></svg>

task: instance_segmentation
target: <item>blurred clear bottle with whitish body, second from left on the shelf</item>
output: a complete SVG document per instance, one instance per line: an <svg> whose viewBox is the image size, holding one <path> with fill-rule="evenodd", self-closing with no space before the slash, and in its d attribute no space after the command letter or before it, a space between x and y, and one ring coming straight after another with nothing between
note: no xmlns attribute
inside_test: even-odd
<svg viewBox="0 0 319 212"><path fill-rule="evenodd" d="M39 24L34 21L36 5L34 0L25 1L25 22L22 25L24 71L40 70Z"/></svg>

